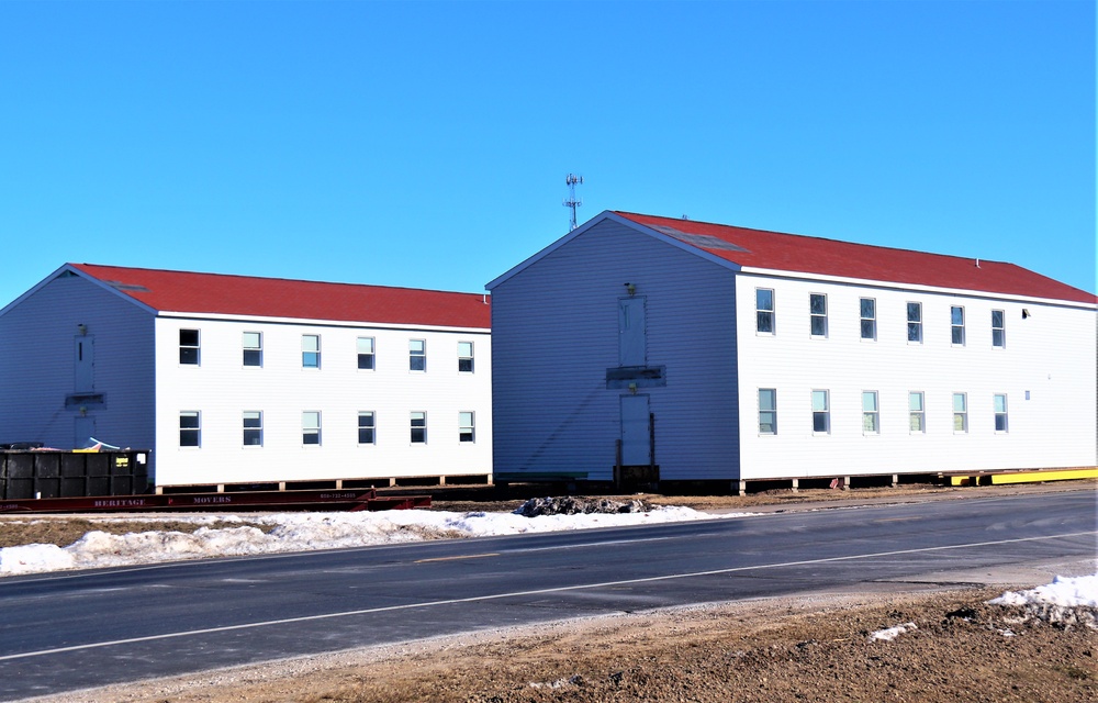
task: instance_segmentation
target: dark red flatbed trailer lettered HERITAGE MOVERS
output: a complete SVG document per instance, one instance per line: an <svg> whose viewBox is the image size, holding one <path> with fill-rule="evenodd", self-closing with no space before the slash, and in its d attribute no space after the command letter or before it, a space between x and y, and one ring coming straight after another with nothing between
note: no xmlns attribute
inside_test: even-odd
<svg viewBox="0 0 1098 703"><path fill-rule="evenodd" d="M430 507L429 495L378 495L370 489L239 491L228 493L148 493L76 498L0 500L0 515L135 511L310 510L380 511Z"/></svg>

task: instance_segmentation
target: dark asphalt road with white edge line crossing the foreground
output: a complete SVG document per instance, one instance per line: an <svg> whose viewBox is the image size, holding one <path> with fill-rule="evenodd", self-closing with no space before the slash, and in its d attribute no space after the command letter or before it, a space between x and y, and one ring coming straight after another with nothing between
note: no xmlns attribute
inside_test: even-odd
<svg viewBox="0 0 1098 703"><path fill-rule="evenodd" d="M1096 536L1095 495L1078 491L7 578L0 700L581 615L1087 561Z"/></svg>

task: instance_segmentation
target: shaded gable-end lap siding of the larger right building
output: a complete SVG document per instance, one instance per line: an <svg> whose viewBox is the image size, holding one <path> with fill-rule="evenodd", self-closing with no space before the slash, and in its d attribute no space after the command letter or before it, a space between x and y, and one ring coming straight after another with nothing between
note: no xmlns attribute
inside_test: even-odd
<svg viewBox="0 0 1098 703"><path fill-rule="evenodd" d="M628 391L607 390L606 370L618 365L627 282L646 300L648 365L666 367L666 387L638 390L656 415L661 478L735 477L733 278L612 222L493 291L497 471L612 478Z"/></svg>

